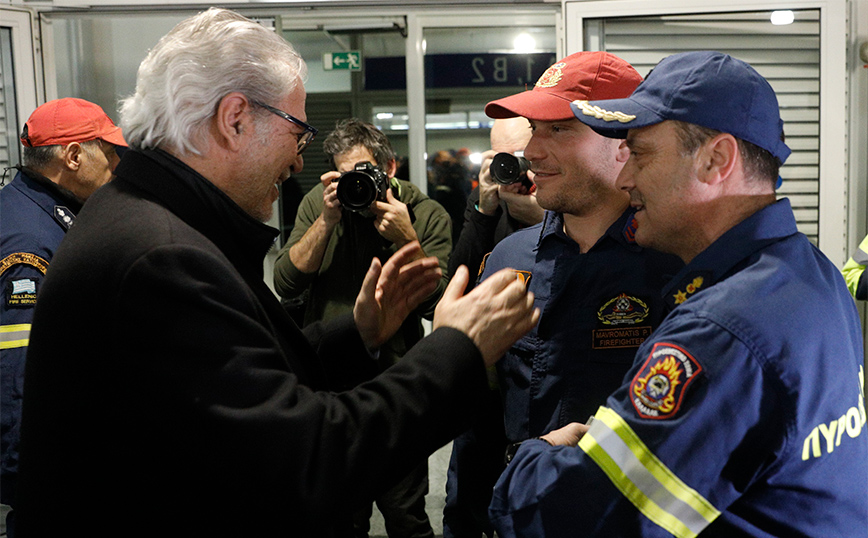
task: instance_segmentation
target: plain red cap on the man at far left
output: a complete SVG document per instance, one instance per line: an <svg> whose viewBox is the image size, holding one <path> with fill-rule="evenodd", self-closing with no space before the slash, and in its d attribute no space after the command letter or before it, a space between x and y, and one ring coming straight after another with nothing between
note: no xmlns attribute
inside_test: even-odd
<svg viewBox="0 0 868 538"><path fill-rule="evenodd" d="M74 97L55 99L38 107L21 132L21 143L28 148L65 146L97 138L115 146L127 145L121 128L99 105Z"/></svg>

